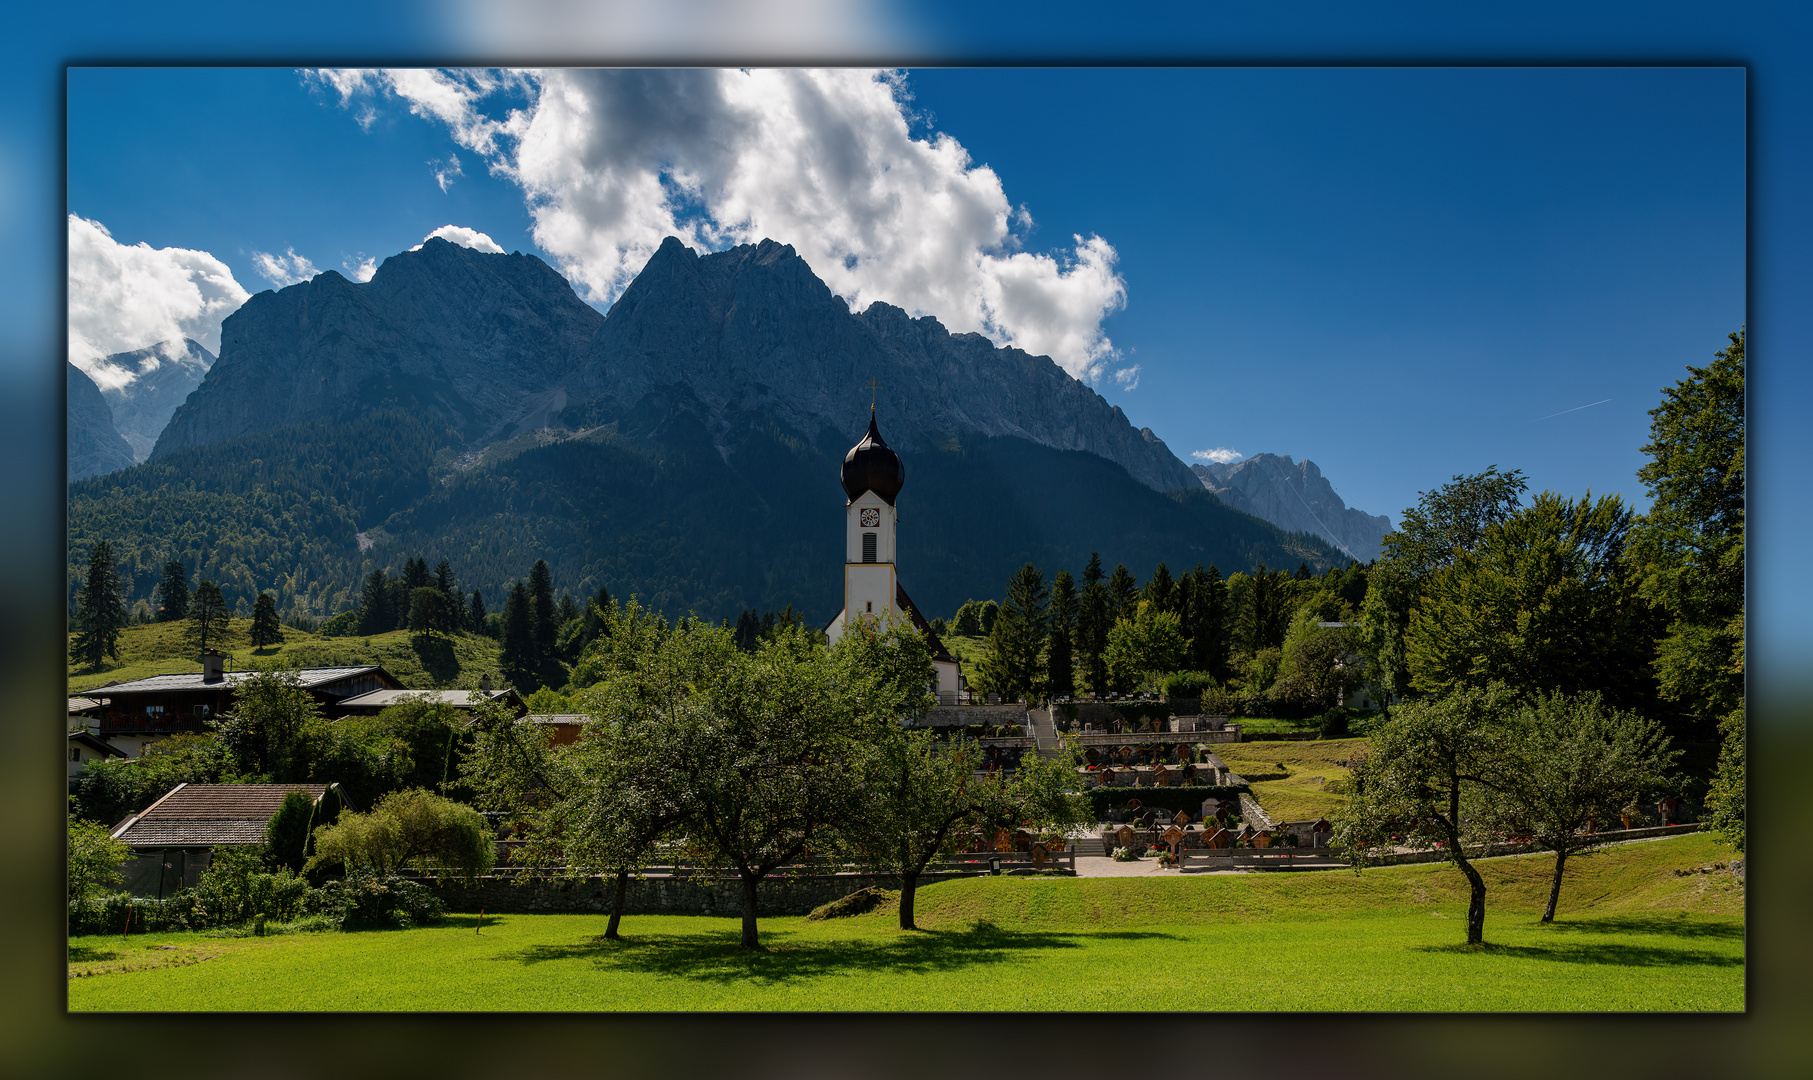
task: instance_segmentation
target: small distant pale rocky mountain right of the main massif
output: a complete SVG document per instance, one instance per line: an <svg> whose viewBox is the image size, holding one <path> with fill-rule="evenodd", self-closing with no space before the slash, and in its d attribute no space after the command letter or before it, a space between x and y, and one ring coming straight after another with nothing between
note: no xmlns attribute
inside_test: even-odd
<svg viewBox="0 0 1813 1080"><path fill-rule="evenodd" d="M1391 533L1389 516L1349 507L1309 458L1298 464L1289 455L1258 453L1191 471L1227 506L1280 529L1320 536L1356 562L1378 558L1380 542Z"/></svg>

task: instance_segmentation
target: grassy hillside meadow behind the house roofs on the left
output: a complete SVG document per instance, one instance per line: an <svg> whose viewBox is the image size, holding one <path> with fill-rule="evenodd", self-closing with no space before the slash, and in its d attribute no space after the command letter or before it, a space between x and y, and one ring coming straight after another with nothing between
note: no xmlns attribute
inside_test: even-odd
<svg viewBox="0 0 1813 1080"><path fill-rule="evenodd" d="M194 649L183 640L189 623L147 623L127 627L120 634L120 656L100 670L87 665L69 667L69 692L111 681L141 680L154 674L201 670ZM301 667L335 667L379 663L412 690L451 687L466 669L479 674L499 670L499 643L479 634L412 634L392 631L370 638L321 638L294 627L283 627L283 643L252 649L252 620L230 622L221 652L232 660L232 669L250 669L274 658L296 661ZM74 634L69 647L74 649Z"/></svg>

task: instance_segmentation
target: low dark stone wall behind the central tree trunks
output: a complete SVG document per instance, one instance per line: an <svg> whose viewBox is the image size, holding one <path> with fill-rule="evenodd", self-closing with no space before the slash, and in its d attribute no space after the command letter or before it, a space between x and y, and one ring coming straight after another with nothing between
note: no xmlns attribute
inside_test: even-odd
<svg viewBox="0 0 1813 1080"><path fill-rule="evenodd" d="M934 884L972 873L921 873L919 884ZM457 881L422 881L448 911L473 913L548 913L548 911L609 911L616 886L609 877L582 881L546 881L529 877L480 877L464 886ZM899 888L894 873L818 873L800 877L769 877L756 886L760 915L807 915L819 904L843 899L872 884ZM742 915L743 882L736 877L649 875L629 879L624 895L625 915Z"/></svg>

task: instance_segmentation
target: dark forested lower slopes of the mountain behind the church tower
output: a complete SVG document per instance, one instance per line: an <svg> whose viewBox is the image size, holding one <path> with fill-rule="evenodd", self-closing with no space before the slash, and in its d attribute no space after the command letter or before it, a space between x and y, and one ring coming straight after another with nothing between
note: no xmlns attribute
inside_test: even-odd
<svg viewBox="0 0 1813 1080"><path fill-rule="evenodd" d="M653 431L631 417L462 468L457 433L401 411L274 428L73 484L69 594L105 538L129 605L147 611L169 560L218 582L241 614L268 589L296 618L354 607L364 574L412 556L448 560L495 607L546 558L577 596L607 587L707 618L792 603L825 622L841 602L847 448L829 431L819 442L761 415L723 444L684 415ZM1206 491L1160 495L1091 453L984 437L901 453L901 580L932 612L992 594L1024 562L1081 565L1097 549L1140 574L1164 560L1345 564L1316 538Z"/></svg>

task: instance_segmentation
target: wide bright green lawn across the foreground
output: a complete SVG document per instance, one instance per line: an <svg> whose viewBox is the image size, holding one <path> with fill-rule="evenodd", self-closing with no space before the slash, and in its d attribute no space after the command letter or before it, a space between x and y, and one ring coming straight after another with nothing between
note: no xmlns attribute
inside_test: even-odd
<svg viewBox="0 0 1813 1080"><path fill-rule="evenodd" d="M1536 922L1550 863L1483 863L1487 940L1445 866L1362 875L984 877L894 911L829 922L473 915L408 931L71 940L69 1008L96 1009L1556 1009L1744 1008L1744 892L1701 835L1623 844L1570 868ZM1575 863L1570 863L1575 866ZM174 946L174 948L160 948Z"/></svg>

